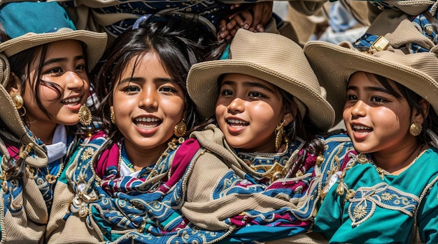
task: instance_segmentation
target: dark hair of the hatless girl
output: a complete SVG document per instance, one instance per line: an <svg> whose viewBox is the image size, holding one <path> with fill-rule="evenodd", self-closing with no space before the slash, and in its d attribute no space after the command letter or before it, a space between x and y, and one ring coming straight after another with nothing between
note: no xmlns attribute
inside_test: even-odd
<svg viewBox="0 0 438 244"><path fill-rule="evenodd" d="M190 130L197 123L195 104L188 96L185 80L190 67L204 61L216 44L216 33L209 31L197 19L178 17L174 14L152 15L136 29L127 29L115 39L95 69L97 74L96 93L101 101L97 116L110 139L117 142L122 134L111 123L110 102L115 84L129 61L148 52L160 56L164 70L181 86L185 93L185 108ZM134 64L134 70L136 63Z"/></svg>

